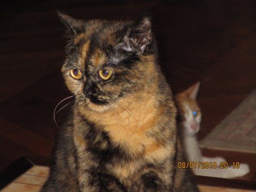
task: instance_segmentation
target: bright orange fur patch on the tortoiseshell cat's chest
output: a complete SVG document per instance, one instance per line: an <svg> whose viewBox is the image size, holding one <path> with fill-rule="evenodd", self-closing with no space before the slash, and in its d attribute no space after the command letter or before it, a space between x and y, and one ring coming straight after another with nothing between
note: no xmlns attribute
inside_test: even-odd
<svg viewBox="0 0 256 192"><path fill-rule="evenodd" d="M96 131L107 135L108 143L111 143L110 147L121 148L130 156L143 156L148 161L154 161L155 158L161 161L166 158L170 146L157 141L151 134L159 131L162 126L159 122L164 120L162 113L167 109L151 105L156 100L154 95L145 93L138 93L138 95L143 99L136 98L130 103L123 101L123 106L113 111L95 114L93 111L80 109L79 113L82 118L97 122L95 123ZM171 131L173 131L172 127L169 134ZM104 146L107 145L104 144ZM158 153L151 153L152 151L158 151Z"/></svg>

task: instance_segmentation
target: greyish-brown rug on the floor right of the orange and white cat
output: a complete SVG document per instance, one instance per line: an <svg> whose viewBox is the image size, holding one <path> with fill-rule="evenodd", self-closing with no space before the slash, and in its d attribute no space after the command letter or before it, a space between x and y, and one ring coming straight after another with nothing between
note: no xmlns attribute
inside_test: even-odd
<svg viewBox="0 0 256 192"><path fill-rule="evenodd" d="M199 146L256 153L256 90L223 119Z"/></svg>

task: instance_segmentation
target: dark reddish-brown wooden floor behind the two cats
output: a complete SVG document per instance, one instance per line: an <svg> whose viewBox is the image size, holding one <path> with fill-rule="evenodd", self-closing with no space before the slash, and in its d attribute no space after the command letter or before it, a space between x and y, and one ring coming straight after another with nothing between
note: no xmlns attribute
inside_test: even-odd
<svg viewBox="0 0 256 192"><path fill-rule="evenodd" d="M70 95L60 74L66 42L57 9L84 19L129 19L150 12L159 62L173 92L202 83L199 139L256 88L254 0L28 2L0 8L0 169L22 155L35 161L50 156L58 133L53 109ZM58 115L60 124L67 112ZM256 181L255 154L203 153L249 163L251 173L242 179Z"/></svg>

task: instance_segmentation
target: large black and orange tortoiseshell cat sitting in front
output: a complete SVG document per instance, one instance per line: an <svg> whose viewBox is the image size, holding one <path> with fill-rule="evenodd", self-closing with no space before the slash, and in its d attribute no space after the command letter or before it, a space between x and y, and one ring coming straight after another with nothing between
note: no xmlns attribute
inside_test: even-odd
<svg viewBox="0 0 256 192"><path fill-rule="evenodd" d="M197 191L151 20L75 20L62 73L75 95L42 191Z"/></svg>

